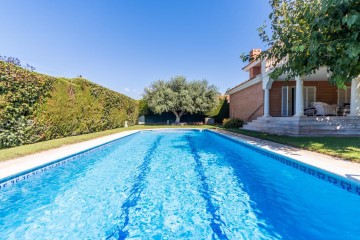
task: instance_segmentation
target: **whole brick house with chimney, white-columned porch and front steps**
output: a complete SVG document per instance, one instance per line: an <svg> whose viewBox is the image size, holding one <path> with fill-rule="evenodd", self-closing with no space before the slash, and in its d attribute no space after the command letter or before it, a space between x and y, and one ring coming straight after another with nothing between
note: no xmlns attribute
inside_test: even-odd
<svg viewBox="0 0 360 240"><path fill-rule="evenodd" d="M270 60L250 52L243 70L249 79L229 89L230 117L245 122L245 129L286 135L360 136L360 77L346 89L332 85L326 67L309 76L271 79ZM322 108L322 109L320 109Z"/></svg>

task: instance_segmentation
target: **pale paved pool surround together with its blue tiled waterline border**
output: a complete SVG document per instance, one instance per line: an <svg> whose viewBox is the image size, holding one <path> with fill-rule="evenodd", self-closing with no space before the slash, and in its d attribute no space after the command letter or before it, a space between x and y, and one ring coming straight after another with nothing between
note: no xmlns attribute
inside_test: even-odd
<svg viewBox="0 0 360 240"><path fill-rule="evenodd" d="M0 190L5 187L7 182L11 185L17 181L23 180L31 175L37 174L44 170L44 168L53 168L61 163L70 161L82 155L82 153L90 152L92 149L97 149L103 145L107 145L118 139L121 139L132 134L142 131L187 131L199 130L210 131L226 138L233 139L243 145L259 149L259 152L283 162L286 165L298 168L303 172L314 175L315 177L327 180L335 185L338 185L350 192L360 195L360 164L349 161L344 161L339 158L334 158L328 155L311 152L284 144L274 143L267 140L262 140L242 134L232 133L224 130L213 129L199 129L199 128L161 128L161 129L142 129L142 130L128 130L121 133L116 133L80 143L62 146L56 149L50 149L40 153L27 155L24 157L0 162ZM275 155L274 155L275 154ZM303 167L299 168L300 166ZM306 167L307 166L307 167ZM45 169L46 170L46 169ZM44 171L45 171L44 170ZM319 171L316 171L319 170ZM326 174L326 179L323 177ZM340 177L344 181L334 180L334 177ZM353 186L348 186L351 184ZM356 186L356 190L355 190Z"/></svg>

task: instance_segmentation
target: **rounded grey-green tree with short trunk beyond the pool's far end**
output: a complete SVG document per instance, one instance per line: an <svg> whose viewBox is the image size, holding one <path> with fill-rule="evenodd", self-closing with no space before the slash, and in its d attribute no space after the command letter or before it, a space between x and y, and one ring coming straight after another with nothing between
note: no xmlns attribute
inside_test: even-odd
<svg viewBox="0 0 360 240"><path fill-rule="evenodd" d="M149 108L161 114L172 112L176 116L175 123L180 123L181 116L186 113L204 113L217 106L219 93L214 85L206 80L187 82L182 76L170 81L156 81L145 89L144 100Z"/></svg>

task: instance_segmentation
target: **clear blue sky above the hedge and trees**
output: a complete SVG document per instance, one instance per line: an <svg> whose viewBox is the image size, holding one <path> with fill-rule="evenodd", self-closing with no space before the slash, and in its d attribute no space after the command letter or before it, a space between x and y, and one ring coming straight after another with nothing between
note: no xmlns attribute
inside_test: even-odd
<svg viewBox="0 0 360 240"><path fill-rule="evenodd" d="M139 99L184 75L224 93L246 80L242 52L263 48L265 0L3 0L0 54Z"/></svg>

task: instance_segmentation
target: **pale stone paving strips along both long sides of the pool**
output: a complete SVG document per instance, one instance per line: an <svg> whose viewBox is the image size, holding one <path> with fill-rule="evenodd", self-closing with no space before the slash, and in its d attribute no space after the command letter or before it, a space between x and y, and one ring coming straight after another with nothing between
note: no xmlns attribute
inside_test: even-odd
<svg viewBox="0 0 360 240"><path fill-rule="evenodd" d="M145 130L145 129L144 129ZM155 130L155 129L152 129ZM164 129L162 129L164 130ZM0 162L0 180L10 176L19 174L29 169L33 169L58 159L71 156L73 154L94 148L96 146L105 144L107 142L125 137L142 130L130 130L109 136L92 139L89 141L66 145L60 148L43 151L40 153L31 154L25 157L20 157L4 162ZM220 134L230 136L232 138L241 140L248 144L267 149L277 154L293 158L297 161L323 169L325 171L342 176L351 181L360 184L360 164L349 161L344 161L339 158L331 157L328 155L311 152L279 143L274 143L266 140L261 140L254 137L249 137L241 134L230 133L223 130L210 130L216 131Z"/></svg>

